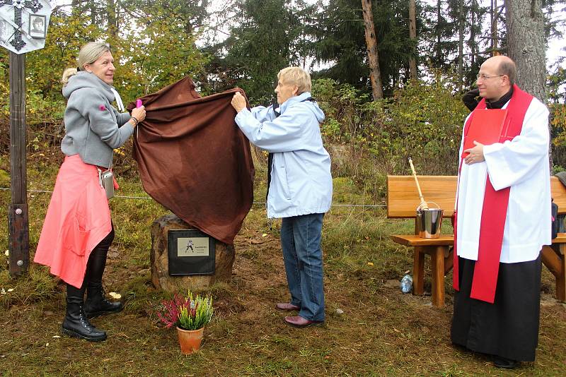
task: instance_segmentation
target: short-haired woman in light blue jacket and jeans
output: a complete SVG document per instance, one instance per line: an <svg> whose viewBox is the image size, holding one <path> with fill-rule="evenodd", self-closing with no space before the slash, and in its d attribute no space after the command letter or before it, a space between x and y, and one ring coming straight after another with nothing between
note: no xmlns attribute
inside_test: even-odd
<svg viewBox="0 0 566 377"><path fill-rule="evenodd" d="M311 76L299 67L277 75L279 107L246 108L238 92L232 106L236 124L250 141L270 152L267 217L282 217L281 247L291 293L277 309L299 311L285 322L305 327L324 322L323 216L332 201L330 156L323 147L324 114L311 98Z"/></svg>

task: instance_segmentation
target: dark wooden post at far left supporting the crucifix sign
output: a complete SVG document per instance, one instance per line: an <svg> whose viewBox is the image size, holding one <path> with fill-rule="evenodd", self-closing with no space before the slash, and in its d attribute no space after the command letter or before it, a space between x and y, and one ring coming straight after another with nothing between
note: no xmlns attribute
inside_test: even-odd
<svg viewBox="0 0 566 377"><path fill-rule="evenodd" d="M10 175L12 203L8 205L10 275L28 270L27 172L25 164L25 54L10 52Z"/></svg>

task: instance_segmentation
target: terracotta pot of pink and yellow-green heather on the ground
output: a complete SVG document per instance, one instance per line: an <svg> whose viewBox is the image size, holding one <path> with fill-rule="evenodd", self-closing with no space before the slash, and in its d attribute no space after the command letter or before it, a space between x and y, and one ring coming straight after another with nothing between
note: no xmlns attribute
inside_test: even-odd
<svg viewBox="0 0 566 377"><path fill-rule="evenodd" d="M199 294L192 297L189 290L186 297L175 293L173 299L161 301L157 316L166 328L175 325L181 352L192 354L200 348L204 325L210 322L213 312L212 297L201 297Z"/></svg>

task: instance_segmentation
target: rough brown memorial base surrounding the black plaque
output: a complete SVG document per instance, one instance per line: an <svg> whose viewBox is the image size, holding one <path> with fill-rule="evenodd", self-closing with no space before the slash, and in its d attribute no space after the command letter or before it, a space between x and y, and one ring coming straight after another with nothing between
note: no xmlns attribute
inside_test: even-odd
<svg viewBox="0 0 566 377"><path fill-rule="evenodd" d="M173 214L159 217L151 225L151 282L157 289L168 292L206 289L214 282L230 281L236 251L233 245L218 240L215 240L216 266L213 275L170 276L168 231L171 229L192 229L192 227Z"/></svg>

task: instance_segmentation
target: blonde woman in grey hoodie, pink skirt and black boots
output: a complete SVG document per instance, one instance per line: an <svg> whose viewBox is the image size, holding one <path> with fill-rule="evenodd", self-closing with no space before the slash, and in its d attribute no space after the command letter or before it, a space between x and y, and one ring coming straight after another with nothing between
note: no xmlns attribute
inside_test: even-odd
<svg viewBox="0 0 566 377"><path fill-rule="evenodd" d="M132 136L146 116L143 106L133 109L132 115L112 106L116 100L118 107L123 107L112 87L114 73L110 47L101 42L85 44L79 52L78 68L63 73L67 108L61 150L65 160L34 258L67 283L62 332L93 342L105 340L106 332L88 318L122 310L122 303L106 299L102 287L114 227L99 174L111 169L113 150Z"/></svg>

